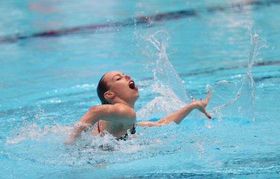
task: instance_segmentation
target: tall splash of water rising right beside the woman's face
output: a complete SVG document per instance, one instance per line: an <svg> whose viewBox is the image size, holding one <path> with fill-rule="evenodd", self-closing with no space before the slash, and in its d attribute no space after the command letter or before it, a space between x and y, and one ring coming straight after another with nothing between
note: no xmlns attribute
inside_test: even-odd
<svg viewBox="0 0 280 179"><path fill-rule="evenodd" d="M176 110L184 107L189 99L184 89L182 81L170 63L167 53L167 41L169 35L166 31L157 31L147 38L156 48L156 67L153 67L153 84L151 91L159 94L141 110L137 112L137 118L147 119L152 115L162 116L163 114L170 114ZM156 113L160 112L160 113Z"/></svg>

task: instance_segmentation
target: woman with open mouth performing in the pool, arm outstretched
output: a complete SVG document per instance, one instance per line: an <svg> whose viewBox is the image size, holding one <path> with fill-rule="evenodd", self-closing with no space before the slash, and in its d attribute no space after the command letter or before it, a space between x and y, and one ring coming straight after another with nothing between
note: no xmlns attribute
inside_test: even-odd
<svg viewBox="0 0 280 179"><path fill-rule="evenodd" d="M127 138L128 131L131 134L135 133L136 113L134 104L139 97L139 92L130 76L119 71L105 73L98 83L97 94L101 100L101 105L91 107L80 118L65 144L74 143L82 131L87 131L94 124L93 136L104 135L104 131L107 131L120 140ZM136 125L159 126L170 122L179 124L194 109L198 109L211 119L211 116L205 110L209 96L210 93L208 92L205 100L194 100L192 98L189 105L175 113L155 122L143 121L137 122Z"/></svg>

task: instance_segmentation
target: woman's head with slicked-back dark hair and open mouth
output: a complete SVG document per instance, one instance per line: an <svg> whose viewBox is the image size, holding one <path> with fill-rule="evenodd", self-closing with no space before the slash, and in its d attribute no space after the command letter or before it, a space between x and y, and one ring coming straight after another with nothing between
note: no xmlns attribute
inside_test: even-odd
<svg viewBox="0 0 280 179"><path fill-rule="evenodd" d="M117 100L134 104L139 97L138 88L130 76L120 71L109 71L102 76L97 86L97 95L102 105L113 104Z"/></svg>

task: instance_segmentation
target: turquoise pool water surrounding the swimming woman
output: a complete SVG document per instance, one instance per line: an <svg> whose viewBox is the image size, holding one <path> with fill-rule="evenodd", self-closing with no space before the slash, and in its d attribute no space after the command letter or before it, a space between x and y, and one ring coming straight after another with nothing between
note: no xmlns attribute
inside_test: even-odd
<svg viewBox="0 0 280 179"><path fill-rule="evenodd" d="M279 178L279 10L279 1L0 2L0 178ZM88 25L103 28L35 37ZM109 70L139 87L138 121L208 90L213 118L193 112L180 125L137 126L128 141L88 132L63 145L100 104Z"/></svg>

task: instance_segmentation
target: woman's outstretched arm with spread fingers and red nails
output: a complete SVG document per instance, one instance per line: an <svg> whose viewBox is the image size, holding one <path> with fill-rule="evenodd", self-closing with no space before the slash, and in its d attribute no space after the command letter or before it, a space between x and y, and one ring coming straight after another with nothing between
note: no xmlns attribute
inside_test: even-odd
<svg viewBox="0 0 280 179"><path fill-rule="evenodd" d="M201 99L201 100L194 100L194 98L192 98L191 103L176 111L175 113L172 113L170 115L167 115L161 119L159 119L158 121L152 122L152 121L143 121L143 122L138 122L138 125L141 126L159 126L159 125L164 125L170 122L175 122L177 124L179 124L192 110L194 109L198 109L199 111L201 111L202 113L204 113L209 119L211 119L210 114L208 114L208 112L205 110L208 101L210 98L210 93L209 91L207 92L207 97L205 100Z"/></svg>

